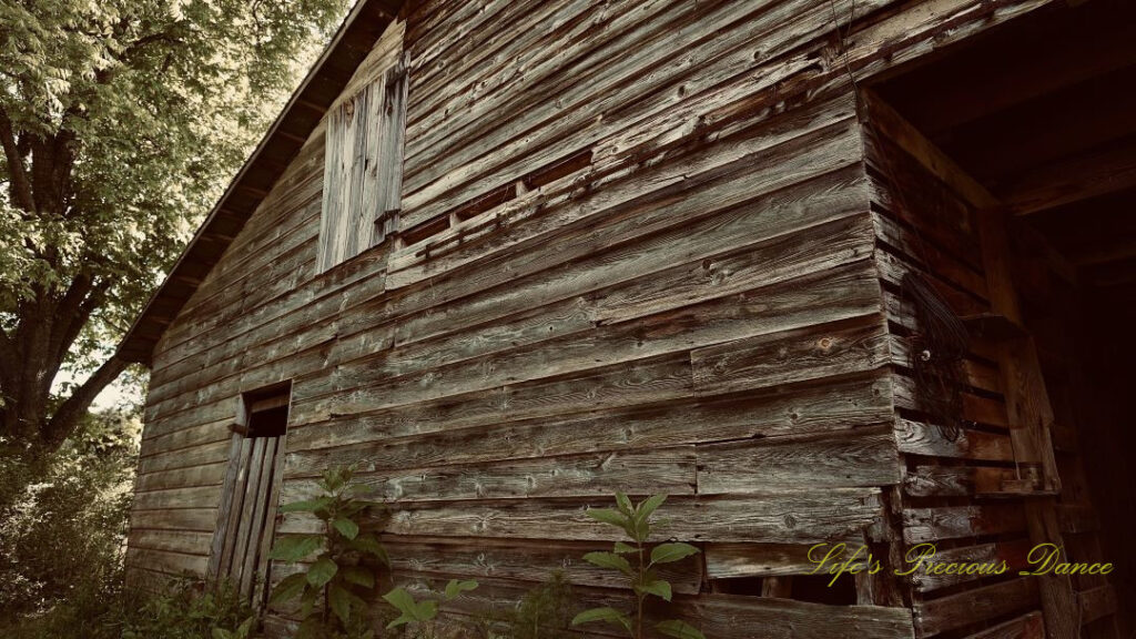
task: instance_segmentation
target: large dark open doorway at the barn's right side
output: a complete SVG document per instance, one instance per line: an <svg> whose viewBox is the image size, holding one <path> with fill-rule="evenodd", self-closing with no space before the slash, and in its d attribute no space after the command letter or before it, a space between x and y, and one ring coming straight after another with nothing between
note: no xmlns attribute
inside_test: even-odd
<svg viewBox="0 0 1136 639"><path fill-rule="evenodd" d="M1001 258L1020 310L1016 324L1036 351L1031 357L1051 405L1046 437L1060 490L1047 497L1046 508L1070 561L1117 566L1109 578L1071 579L1070 623L1077 636L1129 637L1131 606L1125 604L1136 601L1136 549L1127 541L1127 526L1136 520L1136 498L1125 445L1136 426L1126 406L1136 389L1136 340L1130 337L1136 326L1136 3L1054 3L863 84L866 102L877 101L902 128L869 142L877 158L905 151L910 159L929 149L935 157L927 173L938 180L936 188L1004 221ZM892 142L901 149L880 148ZM880 180L895 191L916 189L904 166L883 160L875 169L887 174ZM938 222L958 213L942 202L932 210L918 194L909 199L892 204L922 207L916 213ZM962 306L993 299L987 280L975 277L991 267L989 260L968 266L966 247L943 239L964 236L966 230L947 232L927 222L917 231L917 243L929 247L920 257L930 266L938 263L951 289L947 297L957 294ZM999 364L986 363L992 371ZM974 366L968 374L975 374ZM1010 403L1008 389L992 384L987 390L999 400L1006 393ZM1009 426L1012 432L1020 424ZM983 476L1011 470L1020 476L1018 462L983 460L975 467L987 473ZM1044 487L1029 490L1044 492ZM1037 498L1024 503L1031 499ZM974 503L1004 505L1006 495Z"/></svg>

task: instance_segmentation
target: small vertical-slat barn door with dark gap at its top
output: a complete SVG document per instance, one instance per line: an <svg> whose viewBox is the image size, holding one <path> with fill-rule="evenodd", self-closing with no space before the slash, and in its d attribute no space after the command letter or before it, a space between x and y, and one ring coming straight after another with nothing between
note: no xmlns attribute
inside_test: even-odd
<svg viewBox="0 0 1136 639"><path fill-rule="evenodd" d="M242 398L214 533L210 576L227 581L254 606L268 580L290 390Z"/></svg>

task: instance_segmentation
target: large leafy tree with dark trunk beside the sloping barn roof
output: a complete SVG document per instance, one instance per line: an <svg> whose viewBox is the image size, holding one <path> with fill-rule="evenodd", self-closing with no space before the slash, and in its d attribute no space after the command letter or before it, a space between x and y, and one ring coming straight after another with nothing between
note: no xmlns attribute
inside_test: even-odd
<svg viewBox="0 0 1136 639"><path fill-rule="evenodd" d="M0 437L58 447L344 0L0 0ZM64 370L82 384L52 388Z"/></svg>

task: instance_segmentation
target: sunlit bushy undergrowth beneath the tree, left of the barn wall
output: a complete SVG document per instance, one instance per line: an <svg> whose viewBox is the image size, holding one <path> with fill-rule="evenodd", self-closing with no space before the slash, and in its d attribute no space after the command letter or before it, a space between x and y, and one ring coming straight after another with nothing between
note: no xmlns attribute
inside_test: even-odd
<svg viewBox="0 0 1136 639"><path fill-rule="evenodd" d="M0 463L0 620L67 608L66 625L116 599L140 429L134 412L93 413L43 467Z"/></svg>

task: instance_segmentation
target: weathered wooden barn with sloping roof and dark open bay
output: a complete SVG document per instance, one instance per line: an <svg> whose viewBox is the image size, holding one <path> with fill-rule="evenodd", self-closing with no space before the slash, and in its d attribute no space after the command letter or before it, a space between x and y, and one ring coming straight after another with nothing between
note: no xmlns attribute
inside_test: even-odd
<svg viewBox="0 0 1136 639"><path fill-rule="evenodd" d="M1130 632L1134 15L360 0L120 349L132 576L256 594L357 464L395 579L481 581L459 621L619 597L579 557L623 490L711 638ZM826 587L834 541L886 570ZM895 575L921 542L1011 570Z"/></svg>

